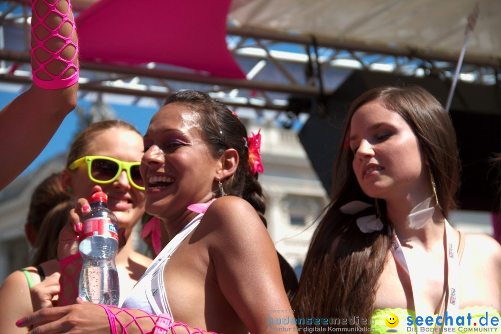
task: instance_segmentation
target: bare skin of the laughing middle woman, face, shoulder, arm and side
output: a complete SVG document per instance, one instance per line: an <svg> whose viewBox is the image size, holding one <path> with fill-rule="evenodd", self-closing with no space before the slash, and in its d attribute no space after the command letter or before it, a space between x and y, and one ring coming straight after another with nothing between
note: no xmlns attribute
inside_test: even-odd
<svg viewBox="0 0 501 334"><path fill-rule="evenodd" d="M167 104L153 116L144 150L145 208L162 219L169 238L197 215L187 206L214 198L217 180L231 176L238 165L234 149L222 156L211 153L200 116L181 103ZM174 319L217 332L266 331L263 312L270 304L289 304L275 257L268 232L249 203L233 196L217 199L165 266ZM249 266L254 270L244 269ZM274 297L259 297L264 291Z"/></svg>

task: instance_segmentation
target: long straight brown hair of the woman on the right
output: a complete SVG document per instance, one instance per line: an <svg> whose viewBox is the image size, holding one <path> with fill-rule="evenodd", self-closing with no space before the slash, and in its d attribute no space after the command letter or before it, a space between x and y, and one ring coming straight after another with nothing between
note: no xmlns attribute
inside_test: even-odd
<svg viewBox="0 0 501 334"><path fill-rule="evenodd" d="M343 138L349 137L353 114L362 105L378 101L409 124L429 162L438 202L445 218L456 207L459 155L449 115L425 89L418 86L379 87L358 97L351 105ZM362 233L351 215L339 208L351 201L374 203L365 195L353 172L354 153L341 140L333 165L332 196L324 209L306 256L299 290L293 301L297 317L370 318L390 248L391 229L386 206L379 200L383 229Z"/></svg>

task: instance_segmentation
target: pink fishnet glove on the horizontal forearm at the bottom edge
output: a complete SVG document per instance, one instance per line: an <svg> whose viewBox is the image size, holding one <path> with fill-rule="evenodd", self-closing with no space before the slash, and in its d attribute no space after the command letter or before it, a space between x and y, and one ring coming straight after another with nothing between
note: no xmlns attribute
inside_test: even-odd
<svg viewBox="0 0 501 334"><path fill-rule="evenodd" d="M205 331L199 328L190 330L190 327L182 322L172 322L172 318L167 313L153 315L140 309L120 308L112 305L99 304L108 315L110 321L111 334L118 334L118 329L121 329L122 334L128 334L128 330L139 329L141 334L217 334L213 331ZM118 327L119 328L118 328Z"/></svg>

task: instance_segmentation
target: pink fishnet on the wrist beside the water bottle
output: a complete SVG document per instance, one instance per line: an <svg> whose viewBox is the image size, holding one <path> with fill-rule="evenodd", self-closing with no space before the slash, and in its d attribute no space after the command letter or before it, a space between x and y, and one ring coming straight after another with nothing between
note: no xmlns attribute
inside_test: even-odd
<svg viewBox="0 0 501 334"><path fill-rule="evenodd" d="M59 261L61 276L59 277L58 306L74 304L78 297L78 282L82 269L82 256L77 253Z"/></svg>

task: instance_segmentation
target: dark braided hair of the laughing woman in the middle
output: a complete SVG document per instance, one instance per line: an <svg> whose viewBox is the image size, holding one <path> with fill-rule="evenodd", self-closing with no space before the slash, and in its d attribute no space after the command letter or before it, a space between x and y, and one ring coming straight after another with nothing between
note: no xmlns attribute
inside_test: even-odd
<svg viewBox="0 0 501 334"><path fill-rule="evenodd" d="M250 203L267 226L265 196L258 182L258 174L253 175L248 164L247 130L243 123L224 104L203 92L185 90L171 93L164 105L174 102L182 103L200 115L202 135L214 157L219 157L228 148L237 151L239 161L235 173L221 180L224 193ZM284 285L291 299L297 291L298 280L290 264L282 255L278 255Z"/></svg>

